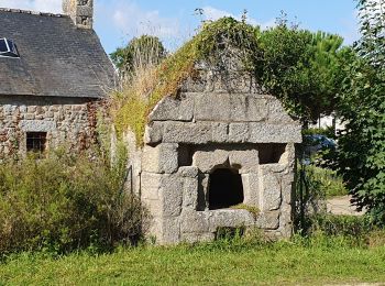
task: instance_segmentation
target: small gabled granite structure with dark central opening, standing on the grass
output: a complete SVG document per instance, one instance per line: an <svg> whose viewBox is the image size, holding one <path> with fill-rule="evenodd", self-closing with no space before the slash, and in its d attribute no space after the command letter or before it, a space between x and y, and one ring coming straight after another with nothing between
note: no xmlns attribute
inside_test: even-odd
<svg viewBox="0 0 385 286"><path fill-rule="evenodd" d="M252 76L199 75L153 109L143 148L129 144L131 185L152 217L148 235L168 244L256 227L289 237L300 123Z"/></svg>

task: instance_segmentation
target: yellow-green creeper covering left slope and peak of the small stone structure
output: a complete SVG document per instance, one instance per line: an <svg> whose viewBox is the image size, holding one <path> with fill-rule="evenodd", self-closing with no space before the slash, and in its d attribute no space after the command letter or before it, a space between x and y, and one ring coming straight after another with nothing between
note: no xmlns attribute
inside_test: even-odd
<svg viewBox="0 0 385 286"><path fill-rule="evenodd" d="M204 24L201 32L187 42L176 53L163 61L154 70L148 70L151 82L141 90L135 82L116 94L119 103L113 110L114 124L118 135L128 129L134 132L139 146L143 145L145 125L150 112L167 96L175 97L186 79L194 75L197 63L206 61L216 64L221 51L233 46L245 51L243 63L245 67L253 66L246 63L255 55L255 28L239 22L232 18L222 18L216 22ZM132 81L142 80L135 77ZM143 91L148 91L143 95ZM118 108L117 108L118 106Z"/></svg>

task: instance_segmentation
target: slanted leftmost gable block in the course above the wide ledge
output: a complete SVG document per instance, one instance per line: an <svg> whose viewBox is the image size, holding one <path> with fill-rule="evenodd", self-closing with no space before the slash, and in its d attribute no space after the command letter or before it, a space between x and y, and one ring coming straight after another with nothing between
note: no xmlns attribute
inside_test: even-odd
<svg viewBox="0 0 385 286"><path fill-rule="evenodd" d="M194 111L194 99L184 94L180 99L165 97L148 116L148 121L191 121Z"/></svg>

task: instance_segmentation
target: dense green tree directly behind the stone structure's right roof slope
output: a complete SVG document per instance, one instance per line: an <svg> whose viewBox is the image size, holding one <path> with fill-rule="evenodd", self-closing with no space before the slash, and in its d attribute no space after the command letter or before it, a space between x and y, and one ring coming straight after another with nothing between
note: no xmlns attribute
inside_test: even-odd
<svg viewBox="0 0 385 286"><path fill-rule="evenodd" d="M289 28L280 20L261 33L258 78L304 123L314 121L334 109L349 50L342 42L338 35Z"/></svg>

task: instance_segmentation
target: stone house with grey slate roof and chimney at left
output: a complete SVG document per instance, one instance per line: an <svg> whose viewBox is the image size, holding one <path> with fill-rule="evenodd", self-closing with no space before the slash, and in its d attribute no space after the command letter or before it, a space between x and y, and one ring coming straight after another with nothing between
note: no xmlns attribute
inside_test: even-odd
<svg viewBox="0 0 385 286"><path fill-rule="evenodd" d="M64 0L63 8L0 9L0 161L94 140L114 69L92 30L92 0Z"/></svg>

